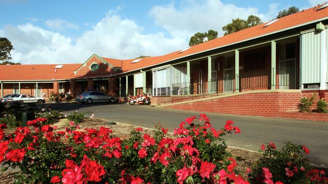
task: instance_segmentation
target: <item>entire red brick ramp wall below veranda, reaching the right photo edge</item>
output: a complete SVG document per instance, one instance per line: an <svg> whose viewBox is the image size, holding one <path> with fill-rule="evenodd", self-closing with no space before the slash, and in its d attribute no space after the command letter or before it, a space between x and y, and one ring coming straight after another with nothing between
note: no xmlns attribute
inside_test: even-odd
<svg viewBox="0 0 328 184"><path fill-rule="evenodd" d="M225 98L172 105L164 108L224 114L238 114L265 117L282 117L328 121L328 114L299 113L297 104L302 96L311 97L314 91L269 92L235 95ZM328 95L328 91L324 91ZM172 97L174 98L174 97ZM315 103L319 100L318 91ZM160 102L159 99L157 99ZM174 101L174 100L172 100ZM313 107L312 109L314 109Z"/></svg>

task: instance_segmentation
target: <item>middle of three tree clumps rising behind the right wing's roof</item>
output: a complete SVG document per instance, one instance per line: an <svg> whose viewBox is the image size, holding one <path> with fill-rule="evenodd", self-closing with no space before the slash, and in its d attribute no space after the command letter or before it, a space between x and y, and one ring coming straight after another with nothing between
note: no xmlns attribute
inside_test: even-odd
<svg viewBox="0 0 328 184"><path fill-rule="evenodd" d="M222 27L222 30L225 31L225 35L228 35L243 29L257 26L259 24L262 24L261 19L257 16L250 15L247 20L239 18L233 19L232 23L229 23L226 26Z"/></svg>

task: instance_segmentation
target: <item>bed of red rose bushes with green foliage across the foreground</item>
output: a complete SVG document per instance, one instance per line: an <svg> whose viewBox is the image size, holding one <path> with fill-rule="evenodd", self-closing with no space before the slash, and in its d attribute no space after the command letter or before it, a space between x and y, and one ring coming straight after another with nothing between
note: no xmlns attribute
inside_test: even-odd
<svg viewBox="0 0 328 184"><path fill-rule="evenodd" d="M273 183L276 178L272 175L276 175L277 168L271 170L261 162L257 164L261 165L260 172L258 167L247 169L252 173L249 178L242 177L236 170L237 162L227 152L223 138L228 133L240 132L232 121L227 121L223 129L215 130L206 115L202 114L197 124L195 119L191 117L186 123L182 122L173 137L157 125L153 135L143 134L143 129L137 128L121 139L113 136L109 128L81 130L74 122L70 122L65 131L56 131L57 127L46 125L47 120L39 118L28 122L33 128L19 127L14 133L6 134L0 131L0 162L5 164L4 168L20 167L21 172L15 176L17 181L29 183ZM4 128L2 124L1 129ZM309 181L323 182L322 173L309 171L306 160L299 154L300 150L307 152L307 149L291 148L288 154L297 155L297 159L289 158L289 166L296 166L295 159L299 161L299 171L294 177L308 176L305 178ZM275 146L269 143L264 150L270 153ZM263 159L265 161L266 156ZM280 163L285 174L282 178L292 178L291 172L285 170L290 167L285 164L289 163ZM304 170L299 164L304 165Z"/></svg>

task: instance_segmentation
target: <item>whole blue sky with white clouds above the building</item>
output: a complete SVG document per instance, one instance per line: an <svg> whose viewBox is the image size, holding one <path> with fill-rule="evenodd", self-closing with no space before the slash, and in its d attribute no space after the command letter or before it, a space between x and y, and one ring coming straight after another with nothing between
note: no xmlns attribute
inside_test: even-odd
<svg viewBox="0 0 328 184"><path fill-rule="evenodd" d="M13 61L21 63L83 62L92 53L125 59L188 47L190 36L208 29L222 35L233 18L265 22L290 6L324 2L0 0L0 37L13 42Z"/></svg>

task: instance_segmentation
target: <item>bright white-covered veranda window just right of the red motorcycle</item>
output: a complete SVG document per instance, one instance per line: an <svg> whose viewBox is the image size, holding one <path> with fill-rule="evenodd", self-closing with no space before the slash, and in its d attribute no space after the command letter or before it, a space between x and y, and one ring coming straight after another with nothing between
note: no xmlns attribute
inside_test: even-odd
<svg viewBox="0 0 328 184"><path fill-rule="evenodd" d="M153 96L170 95L170 68L160 69L153 74Z"/></svg>

